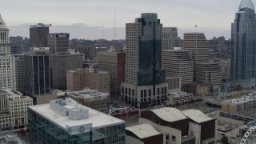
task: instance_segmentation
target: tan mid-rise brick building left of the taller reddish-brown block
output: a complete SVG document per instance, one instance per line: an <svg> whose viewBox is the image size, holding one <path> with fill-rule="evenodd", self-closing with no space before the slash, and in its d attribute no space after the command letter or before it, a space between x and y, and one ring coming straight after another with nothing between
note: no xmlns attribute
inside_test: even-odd
<svg viewBox="0 0 256 144"><path fill-rule="evenodd" d="M66 72L67 90L76 91L89 87L102 93L110 94L110 74L98 70L96 66L86 69L68 70Z"/></svg>

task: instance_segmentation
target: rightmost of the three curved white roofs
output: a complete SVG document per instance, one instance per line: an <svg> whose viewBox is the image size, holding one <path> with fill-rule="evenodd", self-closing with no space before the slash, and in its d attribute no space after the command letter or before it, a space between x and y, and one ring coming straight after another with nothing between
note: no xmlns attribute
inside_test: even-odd
<svg viewBox="0 0 256 144"><path fill-rule="evenodd" d="M186 117L192 119L194 122L202 123L213 120L213 118L208 117L206 114L203 114L200 110L190 109L183 110L182 113L186 115Z"/></svg>

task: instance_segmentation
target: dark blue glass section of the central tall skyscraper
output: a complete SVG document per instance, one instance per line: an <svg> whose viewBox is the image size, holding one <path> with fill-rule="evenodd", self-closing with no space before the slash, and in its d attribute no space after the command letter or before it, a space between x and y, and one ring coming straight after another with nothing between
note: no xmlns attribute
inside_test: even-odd
<svg viewBox="0 0 256 144"><path fill-rule="evenodd" d="M142 14L142 36L139 39L138 86L154 86L166 82L166 71L162 70L162 25L157 14Z"/></svg>

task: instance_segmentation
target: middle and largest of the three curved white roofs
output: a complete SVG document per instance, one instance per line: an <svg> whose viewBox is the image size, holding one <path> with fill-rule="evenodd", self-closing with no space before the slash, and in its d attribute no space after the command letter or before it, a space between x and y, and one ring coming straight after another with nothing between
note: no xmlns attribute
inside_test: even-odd
<svg viewBox="0 0 256 144"><path fill-rule="evenodd" d="M182 119L186 119L186 116L182 112L173 107L162 107L160 109L151 110L154 114L158 115L159 118L167 122L176 122Z"/></svg>

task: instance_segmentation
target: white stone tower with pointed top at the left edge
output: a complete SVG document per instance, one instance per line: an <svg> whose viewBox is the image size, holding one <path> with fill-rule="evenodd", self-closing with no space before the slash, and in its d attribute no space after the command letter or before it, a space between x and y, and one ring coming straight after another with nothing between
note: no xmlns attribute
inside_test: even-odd
<svg viewBox="0 0 256 144"><path fill-rule="evenodd" d="M15 58L10 55L9 29L0 15L0 88L16 90Z"/></svg>

